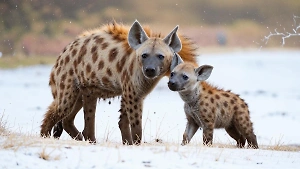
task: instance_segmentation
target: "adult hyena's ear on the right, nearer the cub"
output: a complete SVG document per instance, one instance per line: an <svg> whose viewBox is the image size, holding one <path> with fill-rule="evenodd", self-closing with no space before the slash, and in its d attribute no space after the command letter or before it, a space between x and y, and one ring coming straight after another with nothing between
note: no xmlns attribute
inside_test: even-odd
<svg viewBox="0 0 300 169"><path fill-rule="evenodd" d="M164 41L167 45L169 45L175 53L181 50L181 41L177 35L178 25L169 33L168 36L164 38Z"/></svg>

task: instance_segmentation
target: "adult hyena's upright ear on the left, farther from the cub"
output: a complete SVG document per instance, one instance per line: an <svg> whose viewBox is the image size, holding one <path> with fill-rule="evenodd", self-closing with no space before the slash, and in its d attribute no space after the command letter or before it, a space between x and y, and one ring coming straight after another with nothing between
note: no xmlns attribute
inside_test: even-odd
<svg viewBox="0 0 300 169"><path fill-rule="evenodd" d="M141 24L135 20L132 24L129 33L128 33L128 43L132 49L138 49L140 45L148 40L149 37L147 36L146 32L142 28Z"/></svg>

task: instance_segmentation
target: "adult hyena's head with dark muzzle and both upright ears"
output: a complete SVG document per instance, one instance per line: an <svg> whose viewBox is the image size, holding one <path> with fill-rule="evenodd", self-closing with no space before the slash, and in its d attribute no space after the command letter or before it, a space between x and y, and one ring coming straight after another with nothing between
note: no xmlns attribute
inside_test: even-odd
<svg viewBox="0 0 300 169"><path fill-rule="evenodd" d="M174 53L181 50L177 30L178 26L164 39L149 38L138 21L133 23L129 30L128 43L136 51L145 77L153 79L169 70Z"/></svg>

